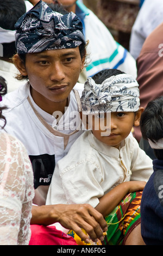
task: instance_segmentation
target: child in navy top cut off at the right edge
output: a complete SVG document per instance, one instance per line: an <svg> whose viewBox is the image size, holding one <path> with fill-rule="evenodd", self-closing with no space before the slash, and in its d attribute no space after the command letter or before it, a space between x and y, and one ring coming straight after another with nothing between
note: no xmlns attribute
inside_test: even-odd
<svg viewBox="0 0 163 256"><path fill-rule="evenodd" d="M143 112L140 127L144 139L154 150L153 174L141 200L141 234L146 245L163 244L163 96L150 101Z"/></svg>

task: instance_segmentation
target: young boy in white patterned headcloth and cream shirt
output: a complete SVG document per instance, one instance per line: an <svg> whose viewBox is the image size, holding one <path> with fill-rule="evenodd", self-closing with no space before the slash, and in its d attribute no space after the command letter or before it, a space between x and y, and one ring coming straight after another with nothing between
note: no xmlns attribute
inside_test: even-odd
<svg viewBox="0 0 163 256"><path fill-rule="evenodd" d="M152 160L130 135L143 111L138 86L119 70L103 70L87 79L82 115L87 115L91 130L57 163L47 195L46 204L91 204L111 223L106 236L110 245L144 244L140 201Z"/></svg>

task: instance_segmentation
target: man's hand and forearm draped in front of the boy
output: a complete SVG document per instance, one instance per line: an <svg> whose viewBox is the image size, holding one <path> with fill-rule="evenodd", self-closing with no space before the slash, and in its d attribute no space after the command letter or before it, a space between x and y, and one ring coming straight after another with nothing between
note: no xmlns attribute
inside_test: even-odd
<svg viewBox="0 0 163 256"><path fill-rule="evenodd" d="M86 243L89 242L81 228L92 241L104 240L103 231L108 230L102 214L89 204L57 204L34 206L31 224L50 225L59 222L64 228L72 229Z"/></svg>

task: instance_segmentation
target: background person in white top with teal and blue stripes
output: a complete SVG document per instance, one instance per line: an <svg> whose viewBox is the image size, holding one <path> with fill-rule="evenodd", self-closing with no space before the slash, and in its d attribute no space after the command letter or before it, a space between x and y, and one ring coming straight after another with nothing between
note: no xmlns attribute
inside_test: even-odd
<svg viewBox="0 0 163 256"><path fill-rule="evenodd" d="M33 4L39 0L31 0ZM54 3L54 0L46 0L47 3ZM120 44L118 44L108 28L101 20L79 0L59 0L70 12L76 13L83 23L85 40L89 40L87 45L87 66L80 73L79 82L84 83L86 78L95 75L103 69L119 69L137 76L136 62L131 54Z"/></svg>

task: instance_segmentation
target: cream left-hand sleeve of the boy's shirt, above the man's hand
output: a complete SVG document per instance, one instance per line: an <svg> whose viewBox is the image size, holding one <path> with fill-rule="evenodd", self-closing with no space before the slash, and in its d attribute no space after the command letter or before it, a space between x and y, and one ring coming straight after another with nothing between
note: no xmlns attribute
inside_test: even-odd
<svg viewBox="0 0 163 256"><path fill-rule="evenodd" d="M65 159L66 160L66 159ZM47 204L90 204L94 208L104 195L103 178L95 163L81 161L66 169L57 163L49 187Z"/></svg>

